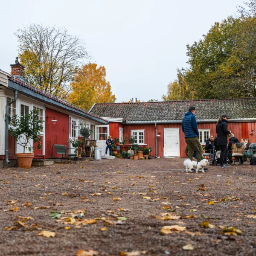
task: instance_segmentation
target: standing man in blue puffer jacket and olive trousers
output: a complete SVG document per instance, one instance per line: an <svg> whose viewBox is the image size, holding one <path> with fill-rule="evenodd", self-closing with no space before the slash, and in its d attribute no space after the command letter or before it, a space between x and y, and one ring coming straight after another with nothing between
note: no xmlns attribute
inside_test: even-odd
<svg viewBox="0 0 256 256"><path fill-rule="evenodd" d="M182 120L182 131L185 134L185 141L188 148L188 157L192 160L194 149L196 151L197 160L200 162L204 159L202 156L202 147L198 139L199 132L197 127L197 122L195 119L195 107L190 106L189 111L185 113ZM204 171L208 170L204 168Z"/></svg>

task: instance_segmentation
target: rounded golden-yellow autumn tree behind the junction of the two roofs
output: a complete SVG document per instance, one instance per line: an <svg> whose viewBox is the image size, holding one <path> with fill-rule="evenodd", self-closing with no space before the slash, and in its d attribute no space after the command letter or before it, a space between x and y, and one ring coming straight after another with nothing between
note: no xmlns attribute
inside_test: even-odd
<svg viewBox="0 0 256 256"><path fill-rule="evenodd" d="M84 65L70 84L72 93L68 100L85 110L89 110L94 103L114 103L116 96L111 92L111 85L106 81L105 67L97 68L96 63Z"/></svg>

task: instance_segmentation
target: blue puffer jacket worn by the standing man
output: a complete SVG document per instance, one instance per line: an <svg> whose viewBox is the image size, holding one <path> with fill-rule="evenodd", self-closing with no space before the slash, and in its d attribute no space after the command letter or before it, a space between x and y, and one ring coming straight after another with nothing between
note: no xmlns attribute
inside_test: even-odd
<svg viewBox="0 0 256 256"><path fill-rule="evenodd" d="M192 112L187 112L182 120L182 131L186 138L199 137L195 115Z"/></svg>

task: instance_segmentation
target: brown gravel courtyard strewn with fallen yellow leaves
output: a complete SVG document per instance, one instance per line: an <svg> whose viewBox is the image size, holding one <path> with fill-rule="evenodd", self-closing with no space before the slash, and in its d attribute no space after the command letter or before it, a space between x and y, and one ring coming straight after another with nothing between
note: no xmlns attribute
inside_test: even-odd
<svg viewBox="0 0 256 256"><path fill-rule="evenodd" d="M0 169L0 255L256 255L256 167L183 160Z"/></svg>

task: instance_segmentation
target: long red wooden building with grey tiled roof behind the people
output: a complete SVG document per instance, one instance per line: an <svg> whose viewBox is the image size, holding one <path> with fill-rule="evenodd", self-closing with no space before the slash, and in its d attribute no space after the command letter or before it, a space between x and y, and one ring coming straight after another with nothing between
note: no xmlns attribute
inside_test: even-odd
<svg viewBox="0 0 256 256"><path fill-rule="evenodd" d="M181 122L189 106L195 106L200 142L205 144L222 114L230 116L228 128L240 140L256 142L256 98L206 99L169 102L94 104L90 113L109 121L112 137L136 137L141 146L152 146L158 157L186 157Z"/></svg>

